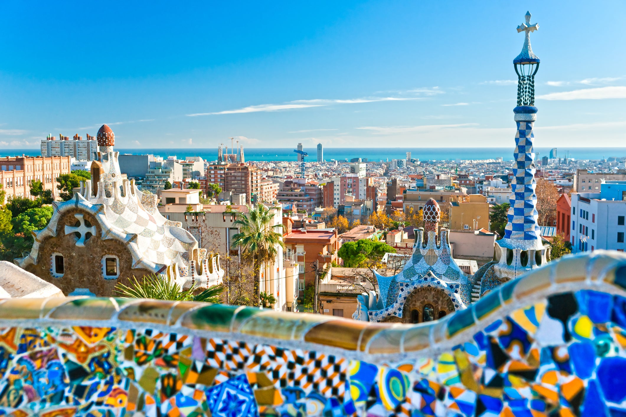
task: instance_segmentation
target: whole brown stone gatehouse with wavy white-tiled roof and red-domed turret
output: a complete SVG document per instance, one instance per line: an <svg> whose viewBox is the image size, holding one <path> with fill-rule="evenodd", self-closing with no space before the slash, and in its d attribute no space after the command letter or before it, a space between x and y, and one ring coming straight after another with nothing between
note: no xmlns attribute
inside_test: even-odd
<svg viewBox="0 0 626 417"><path fill-rule="evenodd" d="M161 215L155 194L122 175L111 128L104 124L97 139L91 181L69 201L53 203L46 228L33 232L31 253L15 263L66 295L112 296L118 282L147 274L169 276L182 288L221 283L219 256L199 248L180 222Z"/></svg>

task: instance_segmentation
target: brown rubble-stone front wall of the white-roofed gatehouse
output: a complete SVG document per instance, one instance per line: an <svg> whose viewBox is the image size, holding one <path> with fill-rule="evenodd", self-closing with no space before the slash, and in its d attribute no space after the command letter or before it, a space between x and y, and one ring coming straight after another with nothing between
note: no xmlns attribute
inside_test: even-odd
<svg viewBox="0 0 626 417"><path fill-rule="evenodd" d="M85 247L76 246L76 235L65 234L65 226L74 226L77 219L74 214L83 214L86 222L96 228L95 236L86 239ZM85 223L87 224L87 223ZM61 216L57 224L56 237L44 239L39 248L36 264L26 266L26 271L54 284L68 295L76 288L86 288L96 296L119 295L113 292L118 282L128 284L126 278L135 276L139 281L148 269L133 269L133 259L126 246L116 239L101 239L102 230L96 218L80 209L69 210ZM56 278L51 273L52 254L60 253L64 259L65 273ZM114 255L120 259L118 279L105 279L102 271L102 259L105 255Z"/></svg>

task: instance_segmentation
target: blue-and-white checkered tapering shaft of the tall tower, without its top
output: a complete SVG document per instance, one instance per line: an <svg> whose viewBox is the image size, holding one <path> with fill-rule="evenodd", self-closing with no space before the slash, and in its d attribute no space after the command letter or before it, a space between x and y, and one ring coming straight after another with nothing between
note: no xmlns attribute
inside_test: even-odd
<svg viewBox="0 0 626 417"><path fill-rule="evenodd" d="M533 122L518 121L515 135L515 168L510 199L511 208L508 211L508 223L505 228L505 238L532 241L540 238L537 224L538 213L535 208L537 196L535 194L535 152L533 151Z"/></svg>

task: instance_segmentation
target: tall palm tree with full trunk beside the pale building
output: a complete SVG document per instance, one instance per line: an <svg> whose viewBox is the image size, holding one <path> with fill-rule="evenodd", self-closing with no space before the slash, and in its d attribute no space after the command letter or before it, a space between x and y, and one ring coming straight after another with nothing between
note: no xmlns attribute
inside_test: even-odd
<svg viewBox="0 0 626 417"><path fill-rule="evenodd" d="M254 258L254 298L259 302L260 268L264 263L273 262L278 256L278 247L285 249L282 241L282 223L274 224L275 212L264 204L257 204L248 213L240 213L233 224L239 226L239 233L232 236L231 247L240 246ZM276 231L280 229L279 231Z"/></svg>

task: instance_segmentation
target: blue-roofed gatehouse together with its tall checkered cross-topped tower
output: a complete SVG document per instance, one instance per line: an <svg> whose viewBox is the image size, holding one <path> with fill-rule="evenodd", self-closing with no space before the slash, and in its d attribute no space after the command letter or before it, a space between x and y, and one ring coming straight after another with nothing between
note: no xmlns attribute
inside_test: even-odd
<svg viewBox="0 0 626 417"><path fill-rule="evenodd" d="M438 240L439 206L430 199L424 206L424 229L416 231L413 255L401 273L377 275L378 293L361 294L355 319L418 323L438 319L488 293L496 286L515 279L550 259L550 246L543 244L537 224L535 194L535 152L533 124L536 120L535 74L539 58L530 46L530 33L539 29L526 23L517 31L525 33L521 53L513 59L518 75L517 124L513 151L513 181L505 236L496 241L493 260L473 276L466 276L451 257L448 231L441 229Z"/></svg>

